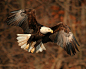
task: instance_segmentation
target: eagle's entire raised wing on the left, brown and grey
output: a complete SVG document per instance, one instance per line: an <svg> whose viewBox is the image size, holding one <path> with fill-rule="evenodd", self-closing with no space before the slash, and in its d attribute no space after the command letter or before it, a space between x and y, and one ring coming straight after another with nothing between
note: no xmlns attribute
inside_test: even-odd
<svg viewBox="0 0 86 69"><path fill-rule="evenodd" d="M11 13L13 13L13 15L7 18L7 24L21 27L24 33L31 33L31 31L35 31L34 33L36 33L38 28L42 26L36 20L34 9L23 9Z"/></svg>

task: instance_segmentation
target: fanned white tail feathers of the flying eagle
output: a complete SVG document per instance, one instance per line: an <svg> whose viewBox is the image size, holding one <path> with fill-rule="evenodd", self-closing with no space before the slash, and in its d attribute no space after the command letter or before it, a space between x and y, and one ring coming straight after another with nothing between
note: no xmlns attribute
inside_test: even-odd
<svg viewBox="0 0 86 69"><path fill-rule="evenodd" d="M31 52L34 47L34 45L36 44L35 42L31 42L30 44L27 44L27 41L29 40L29 38L31 37L31 34L17 34L17 42L18 45L21 46L21 48L23 48L24 50L28 50L28 52ZM43 50L46 50L45 46L43 45L43 43L41 42L37 47L36 47L36 53L38 52L42 52Z"/></svg>

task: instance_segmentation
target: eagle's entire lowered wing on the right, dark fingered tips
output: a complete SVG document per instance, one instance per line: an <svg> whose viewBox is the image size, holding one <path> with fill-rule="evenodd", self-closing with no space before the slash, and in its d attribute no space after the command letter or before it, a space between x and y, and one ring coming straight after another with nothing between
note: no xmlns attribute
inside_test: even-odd
<svg viewBox="0 0 86 69"><path fill-rule="evenodd" d="M59 23L56 26L52 27L52 29L54 33L50 35L50 39L53 42L64 48L64 50L66 50L70 55L71 52L75 54L76 50L79 51L77 47L79 44L67 25Z"/></svg>

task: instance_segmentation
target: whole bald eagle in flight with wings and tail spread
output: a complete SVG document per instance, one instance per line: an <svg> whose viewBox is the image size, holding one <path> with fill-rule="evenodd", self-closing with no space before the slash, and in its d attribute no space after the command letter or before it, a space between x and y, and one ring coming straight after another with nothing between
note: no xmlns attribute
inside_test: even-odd
<svg viewBox="0 0 86 69"><path fill-rule="evenodd" d="M18 45L30 53L46 50L44 43L54 42L64 48L71 55L75 54L80 46L69 27L62 22L54 27L46 27L36 20L34 9L22 9L11 12L6 20L10 26L19 26L24 34L17 34Z"/></svg>

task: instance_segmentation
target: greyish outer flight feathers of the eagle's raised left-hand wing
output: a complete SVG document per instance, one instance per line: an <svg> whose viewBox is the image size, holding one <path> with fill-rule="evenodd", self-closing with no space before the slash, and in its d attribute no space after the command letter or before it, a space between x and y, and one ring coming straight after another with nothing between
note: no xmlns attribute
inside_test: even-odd
<svg viewBox="0 0 86 69"><path fill-rule="evenodd" d="M11 26L19 26L23 31L26 31L28 29L28 16L24 12L25 10L13 11L13 14L6 20L7 24Z"/></svg>

